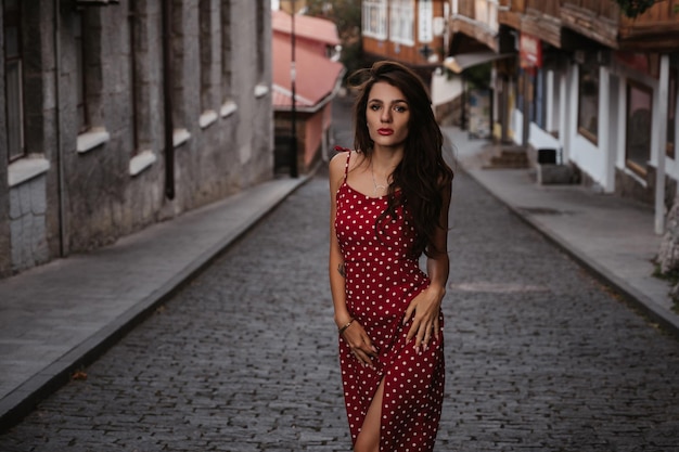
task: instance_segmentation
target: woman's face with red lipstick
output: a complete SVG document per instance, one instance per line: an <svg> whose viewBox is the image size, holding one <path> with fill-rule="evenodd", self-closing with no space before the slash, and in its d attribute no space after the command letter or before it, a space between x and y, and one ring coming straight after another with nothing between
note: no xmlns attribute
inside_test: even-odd
<svg viewBox="0 0 679 452"><path fill-rule="evenodd" d="M386 81L370 89L366 118L374 146L398 147L408 138L410 106L401 90Z"/></svg>

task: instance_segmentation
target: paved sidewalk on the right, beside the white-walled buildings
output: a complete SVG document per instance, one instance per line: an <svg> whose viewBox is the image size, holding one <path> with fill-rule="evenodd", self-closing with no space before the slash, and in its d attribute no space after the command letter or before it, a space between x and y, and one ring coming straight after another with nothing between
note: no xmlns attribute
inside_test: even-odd
<svg viewBox="0 0 679 452"><path fill-rule="evenodd" d="M483 169L490 156L487 141L470 140L453 127L444 133L456 146L459 167L653 322L679 336L670 286L652 275L662 241L654 233L652 206L580 185L538 185L528 169Z"/></svg>

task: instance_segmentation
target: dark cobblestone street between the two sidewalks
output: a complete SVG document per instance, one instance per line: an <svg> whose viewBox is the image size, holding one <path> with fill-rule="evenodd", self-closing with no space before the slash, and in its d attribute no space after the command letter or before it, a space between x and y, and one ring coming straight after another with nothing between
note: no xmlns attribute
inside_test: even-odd
<svg viewBox="0 0 679 452"><path fill-rule="evenodd" d="M328 181L0 437L26 451L349 451ZM679 345L458 171L437 451L679 451Z"/></svg>

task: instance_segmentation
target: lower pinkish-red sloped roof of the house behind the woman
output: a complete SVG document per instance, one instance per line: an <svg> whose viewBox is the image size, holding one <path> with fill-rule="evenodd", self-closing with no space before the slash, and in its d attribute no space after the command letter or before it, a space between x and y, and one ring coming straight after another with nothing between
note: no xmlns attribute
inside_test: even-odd
<svg viewBox="0 0 679 452"><path fill-rule="evenodd" d="M292 107L291 61L292 44L281 37L272 39L273 93L276 109ZM333 62L304 48L295 48L295 107L313 109L326 98L332 98L344 75L342 63Z"/></svg>

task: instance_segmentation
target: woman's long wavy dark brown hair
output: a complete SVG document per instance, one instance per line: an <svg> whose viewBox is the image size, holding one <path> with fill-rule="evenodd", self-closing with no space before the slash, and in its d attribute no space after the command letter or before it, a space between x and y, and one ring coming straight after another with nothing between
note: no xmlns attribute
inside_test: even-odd
<svg viewBox="0 0 679 452"><path fill-rule="evenodd" d="M379 224L387 216L395 218L396 208L407 205L409 219L418 233L413 255L417 257L424 253L431 257L446 253L446 249L436 249L434 233L437 227L441 227L443 192L452 181L453 172L443 157L444 137L434 117L432 101L422 79L413 70L396 62L380 61L371 68L359 69L351 75L349 82L358 88L354 103L354 146L370 162L374 143L370 139L366 112L370 91L379 81L385 81L403 93L410 119L403 158L394 169L387 189L387 208L375 223L377 235ZM402 196L396 196L397 190Z"/></svg>

